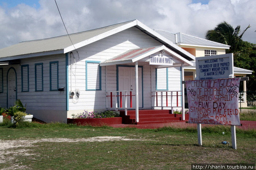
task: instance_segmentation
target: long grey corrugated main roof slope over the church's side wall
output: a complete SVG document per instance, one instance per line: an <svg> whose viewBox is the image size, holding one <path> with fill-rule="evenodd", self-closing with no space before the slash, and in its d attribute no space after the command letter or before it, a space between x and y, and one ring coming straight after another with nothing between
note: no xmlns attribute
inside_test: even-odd
<svg viewBox="0 0 256 170"><path fill-rule="evenodd" d="M132 21L110 25L108 27L93 29L90 31L73 33L73 34L70 34L69 36L73 44L77 44L77 43L80 43L81 41L88 40L92 37L108 32L110 30L113 30L114 28L118 28L130 22ZM40 39L40 40L23 41L13 46L0 49L0 58L5 58L8 56L33 54L33 53L39 53L39 52L64 50L69 46L72 46L72 43L68 35L57 36L57 37L52 37L47 39Z"/></svg>

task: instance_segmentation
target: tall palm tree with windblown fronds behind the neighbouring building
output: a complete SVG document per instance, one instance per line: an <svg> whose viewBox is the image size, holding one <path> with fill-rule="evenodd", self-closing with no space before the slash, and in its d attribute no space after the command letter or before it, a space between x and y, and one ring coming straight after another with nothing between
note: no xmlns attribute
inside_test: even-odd
<svg viewBox="0 0 256 170"><path fill-rule="evenodd" d="M242 33L240 33L240 25L237 25L234 29L229 23L223 21L214 29L210 29L206 32L206 39L229 45L231 47L226 52L234 53L240 50L242 36L248 28L250 28L250 24Z"/></svg>

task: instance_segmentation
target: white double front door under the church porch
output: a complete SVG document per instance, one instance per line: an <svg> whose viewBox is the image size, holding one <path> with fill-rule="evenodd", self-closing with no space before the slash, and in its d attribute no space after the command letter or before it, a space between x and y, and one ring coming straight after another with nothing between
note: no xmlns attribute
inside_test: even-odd
<svg viewBox="0 0 256 170"><path fill-rule="evenodd" d="M138 68L139 107L142 107L142 68ZM132 108L135 108L135 67L118 67L118 91L132 90ZM120 95L120 94L119 94ZM122 95L125 95L122 93ZM130 95L129 93L127 95ZM119 101L120 102L120 101ZM124 97L122 98L125 107ZM120 106L119 106L120 107ZM130 107L130 97L127 97L127 107Z"/></svg>

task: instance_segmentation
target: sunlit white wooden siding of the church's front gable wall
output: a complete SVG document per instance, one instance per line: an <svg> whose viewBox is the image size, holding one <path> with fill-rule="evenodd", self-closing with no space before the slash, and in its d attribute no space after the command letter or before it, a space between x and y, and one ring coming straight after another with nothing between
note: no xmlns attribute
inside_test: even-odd
<svg viewBox="0 0 256 170"><path fill-rule="evenodd" d="M162 45L158 41L144 34L137 28L130 28L125 31L116 33L115 35L106 37L95 43L89 44L86 47L79 48L79 57L76 52L73 55L69 54L69 91L75 91L79 89L80 96L77 98L69 98L69 114L72 114L72 110L105 110L106 109L106 90L116 91L116 65L101 67L101 88L98 91L86 91L85 87L85 64L87 61L104 61L110 59L116 55L119 55L127 50L142 47L152 47ZM74 58L76 64L74 64ZM147 64L147 68L143 67L143 81L150 82L150 66ZM91 70L88 70L91 71ZM147 71L147 73L145 73ZM149 72L148 72L149 71ZM107 76L106 76L107 72ZM145 76L148 74L147 76ZM106 78L107 77L107 78ZM106 87L107 81L107 87ZM144 84L143 84L144 86ZM145 84L145 86L150 86ZM144 99L145 91L144 90ZM150 91L150 88L149 88ZM150 96L146 95L149 102L145 102L144 107L151 107Z"/></svg>

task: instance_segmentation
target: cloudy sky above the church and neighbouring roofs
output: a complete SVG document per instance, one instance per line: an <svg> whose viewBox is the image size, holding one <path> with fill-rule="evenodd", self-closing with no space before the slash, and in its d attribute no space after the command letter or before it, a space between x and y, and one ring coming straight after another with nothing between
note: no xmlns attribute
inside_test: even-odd
<svg viewBox="0 0 256 170"><path fill-rule="evenodd" d="M57 0L69 33L86 31L138 19L152 29L183 32L204 38L208 29L227 21L241 30L243 40L256 43L255 0ZM19 4L0 6L0 48L20 41L66 34L54 1L40 0L40 7Z"/></svg>

